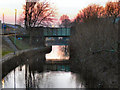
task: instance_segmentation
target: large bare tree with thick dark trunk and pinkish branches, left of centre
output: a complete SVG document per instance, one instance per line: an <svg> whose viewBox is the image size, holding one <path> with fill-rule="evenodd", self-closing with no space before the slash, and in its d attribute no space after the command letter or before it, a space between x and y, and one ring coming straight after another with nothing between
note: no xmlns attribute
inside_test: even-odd
<svg viewBox="0 0 120 90"><path fill-rule="evenodd" d="M23 16L20 18L21 20L25 20L26 28L31 28L45 26L53 22L55 14L55 9L53 9L47 1L26 2Z"/></svg>

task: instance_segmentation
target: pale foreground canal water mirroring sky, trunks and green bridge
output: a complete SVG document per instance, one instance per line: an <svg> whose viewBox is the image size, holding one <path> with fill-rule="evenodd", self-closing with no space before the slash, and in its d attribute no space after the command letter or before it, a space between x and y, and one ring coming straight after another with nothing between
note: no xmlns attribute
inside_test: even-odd
<svg viewBox="0 0 120 90"><path fill-rule="evenodd" d="M79 76L70 72L68 65L46 65L44 71L32 71L30 65L20 66L9 73L4 80L4 88L83 88ZM15 84L14 84L15 82Z"/></svg>

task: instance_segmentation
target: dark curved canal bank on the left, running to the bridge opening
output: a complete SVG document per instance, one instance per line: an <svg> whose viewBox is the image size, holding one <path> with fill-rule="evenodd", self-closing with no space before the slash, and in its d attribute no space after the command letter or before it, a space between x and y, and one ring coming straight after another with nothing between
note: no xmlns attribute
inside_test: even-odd
<svg viewBox="0 0 120 90"><path fill-rule="evenodd" d="M16 52L2 58L2 78L17 66L26 63L27 61L40 60L40 65L43 65L45 54L50 53L52 47L41 47ZM34 60L33 60L34 59Z"/></svg>

